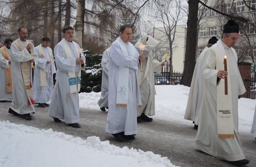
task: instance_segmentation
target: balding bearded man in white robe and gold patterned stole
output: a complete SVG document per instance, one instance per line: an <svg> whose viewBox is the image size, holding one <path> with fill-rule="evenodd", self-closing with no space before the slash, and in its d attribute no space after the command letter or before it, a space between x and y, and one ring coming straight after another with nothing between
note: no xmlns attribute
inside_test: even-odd
<svg viewBox="0 0 256 167"><path fill-rule="evenodd" d="M13 101L9 113L22 114L26 120L31 120L30 113L35 112L32 68L36 69L38 54L34 45L27 40L28 31L26 28L19 28L18 35L19 39L14 41L10 48Z"/></svg>

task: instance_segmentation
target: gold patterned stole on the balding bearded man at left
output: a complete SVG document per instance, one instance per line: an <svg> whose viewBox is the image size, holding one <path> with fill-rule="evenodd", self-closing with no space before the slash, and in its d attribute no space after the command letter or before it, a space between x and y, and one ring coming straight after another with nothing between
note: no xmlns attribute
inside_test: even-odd
<svg viewBox="0 0 256 167"><path fill-rule="evenodd" d="M17 45L19 51L22 51L23 49L26 48L19 42L19 39L17 39L14 42ZM27 42L29 44L31 43L30 41L27 41ZM33 52L33 50L31 49L31 54L30 54L31 56L32 56L32 52ZM25 89L26 89L27 96L28 96L28 105L30 105L31 103L35 104L32 99L32 93L31 93L32 84L31 84L31 75L30 75L31 74L30 61L20 62L20 66L21 66L21 70L22 70L22 76L23 76Z"/></svg>

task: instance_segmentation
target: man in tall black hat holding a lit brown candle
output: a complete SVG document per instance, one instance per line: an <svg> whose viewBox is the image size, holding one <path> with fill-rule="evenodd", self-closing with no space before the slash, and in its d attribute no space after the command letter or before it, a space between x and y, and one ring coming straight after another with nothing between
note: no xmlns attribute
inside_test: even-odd
<svg viewBox="0 0 256 167"><path fill-rule="evenodd" d="M245 165L249 161L243 155L238 137L238 98L245 87L232 48L238 37L239 25L229 20L221 40L204 54L201 71L204 93L195 147L220 160Z"/></svg>

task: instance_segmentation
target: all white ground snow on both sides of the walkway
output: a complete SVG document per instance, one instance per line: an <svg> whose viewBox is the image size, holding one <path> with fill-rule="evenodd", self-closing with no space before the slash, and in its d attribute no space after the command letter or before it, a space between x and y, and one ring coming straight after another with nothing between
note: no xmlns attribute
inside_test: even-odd
<svg viewBox="0 0 256 167"><path fill-rule="evenodd" d="M189 87L182 85L156 86L156 115L153 118L190 124L184 120ZM80 93L80 108L99 109L100 92ZM250 133L255 100L238 100L239 131ZM0 166L88 166L88 167L172 167L167 157L142 150L119 148L98 137L82 140L62 132L39 130L35 127L0 121ZM4 143L4 144L3 144ZM25 161L27 160L27 161Z"/></svg>

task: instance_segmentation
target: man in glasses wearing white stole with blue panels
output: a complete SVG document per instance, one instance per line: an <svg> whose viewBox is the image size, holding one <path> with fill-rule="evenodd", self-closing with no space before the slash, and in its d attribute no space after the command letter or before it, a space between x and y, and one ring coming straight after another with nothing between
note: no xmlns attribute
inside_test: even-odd
<svg viewBox="0 0 256 167"><path fill-rule="evenodd" d="M81 127L79 118L79 96L81 70L85 70L85 57L79 54L79 45L72 41L74 30L66 26L62 30L64 38L54 48L57 66L54 86L48 115L55 122L65 123L72 127ZM81 55L81 58L80 58Z"/></svg>

